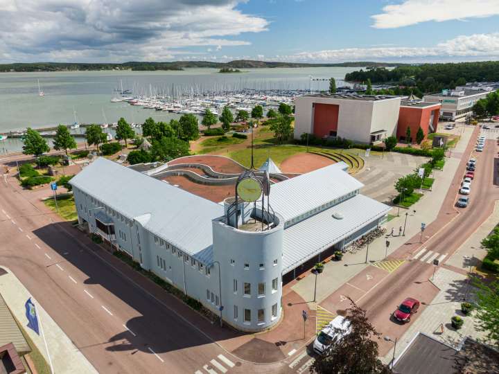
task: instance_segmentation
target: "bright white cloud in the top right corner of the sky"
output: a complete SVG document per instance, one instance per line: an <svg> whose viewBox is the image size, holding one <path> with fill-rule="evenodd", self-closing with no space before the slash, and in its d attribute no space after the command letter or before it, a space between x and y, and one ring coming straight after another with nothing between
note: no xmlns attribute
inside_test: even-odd
<svg viewBox="0 0 499 374"><path fill-rule="evenodd" d="M426 21L450 21L499 15L498 0L405 0L371 16L374 28L399 28Z"/></svg>

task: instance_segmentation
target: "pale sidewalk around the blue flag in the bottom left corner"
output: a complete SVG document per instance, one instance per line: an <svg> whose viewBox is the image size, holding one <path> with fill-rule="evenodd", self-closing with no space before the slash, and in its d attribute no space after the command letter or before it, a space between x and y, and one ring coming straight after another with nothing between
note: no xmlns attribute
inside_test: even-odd
<svg viewBox="0 0 499 374"><path fill-rule="evenodd" d="M37 346L40 353L44 356L47 364L49 357L47 355L42 336L30 328L26 328L26 308L24 303L30 298L30 293L26 287L10 272L8 267L1 267L7 271L7 274L0 276L0 293L5 299L8 307L14 317L21 323L24 330ZM38 318L42 322L47 345L49 346L50 356L55 373L74 373L88 374L97 373L94 366L85 358L84 355L74 346L73 342L61 330L57 323L46 313L43 305L36 305Z"/></svg>

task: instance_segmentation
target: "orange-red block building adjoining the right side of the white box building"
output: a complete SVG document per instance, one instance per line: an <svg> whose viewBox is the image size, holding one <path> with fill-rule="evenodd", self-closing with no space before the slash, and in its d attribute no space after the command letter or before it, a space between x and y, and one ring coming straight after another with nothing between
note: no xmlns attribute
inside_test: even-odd
<svg viewBox="0 0 499 374"><path fill-rule="evenodd" d="M439 103L419 103L402 100L399 111L399 123L396 128L396 138L399 141L406 141L408 127L410 128L413 142L416 140L419 127L423 130L425 136L436 132L439 113Z"/></svg>

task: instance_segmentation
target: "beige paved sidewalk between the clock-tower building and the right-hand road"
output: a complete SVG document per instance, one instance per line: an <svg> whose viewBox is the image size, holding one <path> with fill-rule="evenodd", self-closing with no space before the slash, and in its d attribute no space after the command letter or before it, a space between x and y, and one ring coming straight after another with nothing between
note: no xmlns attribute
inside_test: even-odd
<svg viewBox="0 0 499 374"><path fill-rule="evenodd" d="M345 253L342 261L331 261L324 265L324 271L320 274L317 279L317 303L320 303L327 296L338 290L340 286L348 282L360 273L363 269L371 265L372 262L377 262L384 260L390 254L394 253L397 249L402 248L410 238L414 237L421 232L421 223L424 222L428 226L431 222L437 219L441 206L444 204L444 200L448 193L448 190L453 186L453 179L459 163L465 154L466 148L469 145L469 140L475 132L475 127L466 127L464 129L463 136L453 151L452 157L446 158L446 164L444 170L435 170L435 184L433 185L433 190L423 190L424 196L421 197L419 202L406 210L404 208L400 209L400 216L387 222L387 233L394 229L395 236L385 236L374 240L369 244L369 253L367 263L366 261L366 248L357 251L356 253ZM396 214L398 208L392 209L392 214ZM414 213L416 211L416 213ZM405 213L407 215L407 224L405 224L405 236L399 236L399 227L404 226ZM446 214L457 214L455 209L453 211L446 212ZM426 233L429 234L428 231ZM428 235L423 233L423 241L428 238ZM386 249L385 242L389 241L389 247ZM386 254L386 256L385 256ZM388 258L392 260L392 258ZM389 266L396 267L400 265L397 262L388 263ZM302 299L306 301L313 300L315 285L315 276L310 274L301 281L297 283L292 283L286 287L291 287L291 289ZM315 310L316 303L308 303L311 310ZM331 311L332 312L332 311Z"/></svg>

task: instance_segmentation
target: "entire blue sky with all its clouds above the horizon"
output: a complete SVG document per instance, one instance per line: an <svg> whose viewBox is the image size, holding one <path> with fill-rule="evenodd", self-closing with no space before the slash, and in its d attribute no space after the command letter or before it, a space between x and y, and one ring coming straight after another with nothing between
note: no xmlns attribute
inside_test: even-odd
<svg viewBox="0 0 499 374"><path fill-rule="evenodd" d="M499 0L0 0L0 62L499 60Z"/></svg>

